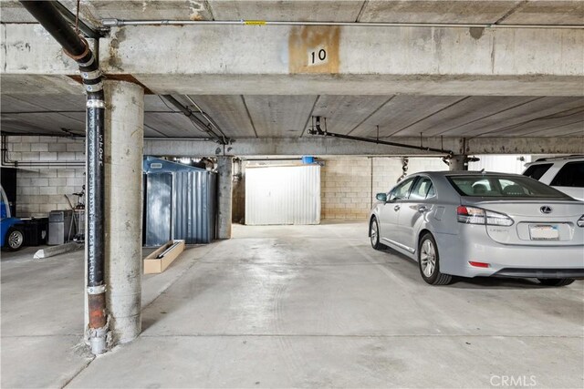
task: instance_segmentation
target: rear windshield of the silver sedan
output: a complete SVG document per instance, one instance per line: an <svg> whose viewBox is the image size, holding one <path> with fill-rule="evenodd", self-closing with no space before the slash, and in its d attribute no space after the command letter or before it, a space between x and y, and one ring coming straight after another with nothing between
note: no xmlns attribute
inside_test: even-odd
<svg viewBox="0 0 584 389"><path fill-rule="evenodd" d="M448 180L462 196L478 197L568 197L535 179L514 176L449 176Z"/></svg>

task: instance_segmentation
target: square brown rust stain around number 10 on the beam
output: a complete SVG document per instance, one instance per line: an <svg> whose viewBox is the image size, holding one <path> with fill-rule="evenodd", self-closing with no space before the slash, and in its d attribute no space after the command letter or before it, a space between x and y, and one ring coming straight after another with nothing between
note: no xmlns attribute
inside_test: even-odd
<svg viewBox="0 0 584 389"><path fill-rule="evenodd" d="M339 73L339 26L293 26L288 37L288 70Z"/></svg>

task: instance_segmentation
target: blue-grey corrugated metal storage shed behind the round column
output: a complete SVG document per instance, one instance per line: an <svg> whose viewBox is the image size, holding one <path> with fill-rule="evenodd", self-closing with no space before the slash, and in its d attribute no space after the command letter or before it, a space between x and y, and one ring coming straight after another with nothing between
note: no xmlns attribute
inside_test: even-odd
<svg viewBox="0 0 584 389"><path fill-rule="evenodd" d="M146 246L215 239L216 173L153 157L144 158L143 171Z"/></svg>

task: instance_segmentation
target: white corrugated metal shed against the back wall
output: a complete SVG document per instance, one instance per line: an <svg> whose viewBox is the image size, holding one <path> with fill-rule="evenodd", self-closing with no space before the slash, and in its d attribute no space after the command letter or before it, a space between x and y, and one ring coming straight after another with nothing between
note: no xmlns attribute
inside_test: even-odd
<svg viewBox="0 0 584 389"><path fill-rule="evenodd" d="M320 166L245 169L245 224L320 223Z"/></svg>

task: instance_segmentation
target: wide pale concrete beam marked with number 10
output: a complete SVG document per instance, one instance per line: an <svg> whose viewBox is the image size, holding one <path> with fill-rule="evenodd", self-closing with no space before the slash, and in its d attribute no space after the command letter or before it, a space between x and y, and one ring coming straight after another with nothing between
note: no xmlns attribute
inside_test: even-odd
<svg viewBox="0 0 584 389"><path fill-rule="evenodd" d="M3 75L77 74L42 27L1 28ZM99 58L159 94L584 96L581 29L125 26Z"/></svg>

